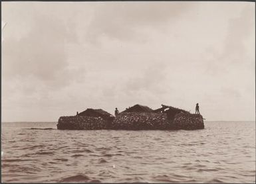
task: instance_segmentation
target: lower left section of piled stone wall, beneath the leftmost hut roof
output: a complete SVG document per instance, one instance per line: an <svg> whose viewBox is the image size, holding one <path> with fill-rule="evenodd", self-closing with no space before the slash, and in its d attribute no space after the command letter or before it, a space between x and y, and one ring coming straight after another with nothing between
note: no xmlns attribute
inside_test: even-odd
<svg viewBox="0 0 256 184"><path fill-rule="evenodd" d="M109 126L109 121L90 116L61 116L57 124L60 130L101 130Z"/></svg>

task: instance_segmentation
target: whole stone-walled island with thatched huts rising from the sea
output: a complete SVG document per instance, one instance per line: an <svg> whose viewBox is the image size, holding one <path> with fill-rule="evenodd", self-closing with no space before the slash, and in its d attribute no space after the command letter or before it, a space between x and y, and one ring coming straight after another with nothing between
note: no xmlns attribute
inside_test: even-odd
<svg viewBox="0 0 256 184"><path fill-rule="evenodd" d="M116 116L102 109L86 109L74 116L61 116L59 130L197 130L203 129L203 116L162 105L153 110L134 105Z"/></svg>

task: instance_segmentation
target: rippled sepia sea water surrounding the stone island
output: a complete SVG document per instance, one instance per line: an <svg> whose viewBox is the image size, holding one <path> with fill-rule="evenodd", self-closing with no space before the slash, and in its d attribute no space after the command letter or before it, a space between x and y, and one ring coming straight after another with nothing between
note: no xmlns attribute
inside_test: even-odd
<svg viewBox="0 0 256 184"><path fill-rule="evenodd" d="M255 183L255 122L205 122L190 131L56 125L2 123L2 182Z"/></svg>

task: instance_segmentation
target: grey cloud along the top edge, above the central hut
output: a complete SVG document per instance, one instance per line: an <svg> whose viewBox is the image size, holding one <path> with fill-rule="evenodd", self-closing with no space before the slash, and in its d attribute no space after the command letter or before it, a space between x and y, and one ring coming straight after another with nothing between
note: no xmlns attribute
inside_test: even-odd
<svg viewBox="0 0 256 184"><path fill-rule="evenodd" d="M181 2L122 2L102 3L96 7L94 17L86 30L90 42L98 42L101 36L126 41L138 41L146 36L140 28L164 29L166 23L188 11L192 3Z"/></svg>

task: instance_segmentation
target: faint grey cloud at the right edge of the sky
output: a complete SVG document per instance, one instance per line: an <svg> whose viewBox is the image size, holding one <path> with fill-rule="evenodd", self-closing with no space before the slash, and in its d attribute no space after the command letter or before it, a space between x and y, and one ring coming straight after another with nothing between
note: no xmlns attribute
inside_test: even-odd
<svg viewBox="0 0 256 184"><path fill-rule="evenodd" d="M208 58L206 73L219 75L219 73L229 72L231 65L241 66L245 62L251 64L252 60L255 60L251 58L253 42L250 42L255 34L252 26L255 21L253 9L253 6L245 5L240 15L229 19L227 36L221 49L213 47L205 49ZM247 51L248 48L250 52Z"/></svg>

